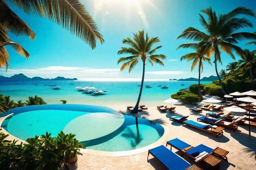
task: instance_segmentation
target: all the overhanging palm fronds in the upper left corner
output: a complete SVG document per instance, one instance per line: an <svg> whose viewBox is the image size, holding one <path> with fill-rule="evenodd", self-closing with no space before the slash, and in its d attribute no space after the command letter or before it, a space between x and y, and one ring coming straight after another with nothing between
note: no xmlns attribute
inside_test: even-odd
<svg viewBox="0 0 256 170"><path fill-rule="evenodd" d="M32 40L36 38L36 34L10 9L7 2L20 8L28 15L36 15L51 20L88 43L92 49L96 47L97 40L101 44L104 42L95 21L79 0L0 0L0 42L5 45L19 46L17 48L20 50L16 49L16 51L19 51L20 54L24 53L25 50L21 49L19 44L13 44L9 38L4 40L2 30L16 36L27 35ZM6 53L5 47L0 45L0 67L8 67L9 65L9 55ZM23 56L29 57L28 53Z"/></svg>

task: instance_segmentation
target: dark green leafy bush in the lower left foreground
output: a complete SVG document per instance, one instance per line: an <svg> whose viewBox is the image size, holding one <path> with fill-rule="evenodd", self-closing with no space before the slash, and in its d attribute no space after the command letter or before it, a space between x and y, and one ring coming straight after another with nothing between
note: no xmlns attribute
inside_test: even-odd
<svg viewBox="0 0 256 170"><path fill-rule="evenodd" d="M1 130L1 129L0 129ZM0 167L10 170L58 170L64 165L70 168L70 160L75 155L82 155L83 144L76 140L73 134L62 131L57 137L51 137L46 132L42 135L28 138L27 144L17 144L17 141L7 141L0 132Z"/></svg>

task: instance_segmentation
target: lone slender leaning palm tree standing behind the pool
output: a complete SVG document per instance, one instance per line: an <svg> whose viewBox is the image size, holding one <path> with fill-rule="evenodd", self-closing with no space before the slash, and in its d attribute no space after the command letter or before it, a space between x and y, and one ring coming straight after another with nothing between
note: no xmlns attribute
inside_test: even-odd
<svg viewBox="0 0 256 170"><path fill-rule="evenodd" d="M132 68L134 68L139 62L139 59L141 59L141 62L143 63L139 97L135 105L135 108L132 110L132 113L138 113L139 101L140 101L143 82L144 82L146 61L148 61L151 64L151 66L153 66L153 62L164 66L164 63L162 62L162 60L166 59L166 56L163 54L159 54L159 55L154 54L155 51L157 51L157 49L160 49L162 47L162 46L157 46L156 48L152 49L153 45L157 42L160 42L160 40L158 37L149 38L148 33L146 33L146 38L145 38L144 30L139 31L138 33L133 33L133 40L130 38L126 38L122 42L123 44L128 44L131 47L128 47L128 48L121 47L121 50L118 51L118 54L131 54L131 56L119 58L117 64L119 64L120 62L125 62L121 66L120 70L123 71L125 68L129 67L129 73L130 73L130 71L132 71Z"/></svg>

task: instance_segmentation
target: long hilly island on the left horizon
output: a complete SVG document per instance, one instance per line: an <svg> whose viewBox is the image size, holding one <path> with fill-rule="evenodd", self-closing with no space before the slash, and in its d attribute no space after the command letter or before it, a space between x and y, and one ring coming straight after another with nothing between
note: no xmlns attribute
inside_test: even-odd
<svg viewBox="0 0 256 170"><path fill-rule="evenodd" d="M0 81L2 82L18 82L18 81L29 81L29 80L36 80L36 81L41 81L41 80L77 80L77 78L65 78L65 77L56 77L54 79L44 79L42 77L32 77L32 78L29 78L27 76L25 76L24 74L20 73L20 74L16 74L16 75L13 75L11 77L4 77L2 75L0 75Z"/></svg>

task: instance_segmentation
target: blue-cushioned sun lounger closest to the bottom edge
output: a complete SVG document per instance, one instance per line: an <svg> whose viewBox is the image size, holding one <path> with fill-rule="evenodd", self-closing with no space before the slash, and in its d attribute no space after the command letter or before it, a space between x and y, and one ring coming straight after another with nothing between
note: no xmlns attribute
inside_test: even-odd
<svg viewBox="0 0 256 170"><path fill-rule="evenodd" d="M148 150L148 156L149 154L168 170L202 170L196 165L191 166L188 162L163 145Z"/></svg>

